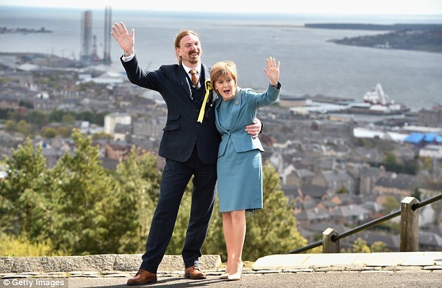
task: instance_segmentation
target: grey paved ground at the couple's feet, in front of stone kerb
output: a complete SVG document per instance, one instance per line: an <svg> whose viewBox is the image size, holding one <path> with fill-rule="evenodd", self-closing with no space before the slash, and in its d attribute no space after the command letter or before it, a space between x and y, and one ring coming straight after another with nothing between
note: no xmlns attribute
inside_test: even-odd
<svg viewBox="0 0 442 288"><path fill-rule="evenodd" d="M68 278L68 287L128 287L128 278ZM0 285L1 286L1 285ZM282 287L442 287L442 271L432 272L327 272L327 273L275 273L271 275L244 275L239 281L220 280L209 276L206 280L186 280L182 276L160 277L153 285L142 287L241 287L241 288L282 288Z"/></svg>

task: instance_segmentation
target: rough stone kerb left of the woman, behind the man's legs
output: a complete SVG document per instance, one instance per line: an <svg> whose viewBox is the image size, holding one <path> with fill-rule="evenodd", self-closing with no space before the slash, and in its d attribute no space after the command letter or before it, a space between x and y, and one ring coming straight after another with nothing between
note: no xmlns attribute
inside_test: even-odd
<svg viewBox="0 0 442 288"><path fill-rule="evenodd" d="M70 272L70 271L137 271L142 254L135 255L86 255L52 257L0 257L0 273L24 272ZM203 255L199 265L203 270L217 269L220 255ZM159 271L181 271L184 269L181 255L165 255Z"/></svg>

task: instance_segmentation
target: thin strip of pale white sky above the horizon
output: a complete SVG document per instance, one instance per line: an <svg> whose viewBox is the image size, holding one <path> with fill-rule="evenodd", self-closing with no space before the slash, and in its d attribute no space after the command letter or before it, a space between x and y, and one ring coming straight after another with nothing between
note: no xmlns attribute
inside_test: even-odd
<svg viewBox="0 0 442 288"><path fill-rule="evenodd" d="M37 6L240 13L442 15L442 0L1 0L4 6ZM442 22L442 16L441 16Z"/></svg>

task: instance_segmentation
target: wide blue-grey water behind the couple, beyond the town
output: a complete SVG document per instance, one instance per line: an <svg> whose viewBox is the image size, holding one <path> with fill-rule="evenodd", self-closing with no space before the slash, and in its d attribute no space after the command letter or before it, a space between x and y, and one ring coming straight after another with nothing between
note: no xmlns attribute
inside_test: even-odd
<svg viewBox="0 0 442 288"><path fill-rule="evenodd" d="M13 8L0 6L0 26L52 30L43 34L0 34L0 52L40 52L79 58L82 10ZM203 62L231 60L238 66L238 85L264 90L265 58L282 62L280 82L284 95L362 97L376 83L413 111L442 102L442 54L336 45L327 40L374 35L378 31L305 29L305 23L442 23L441 16L351 17L323 15L181 15L146 11L112 11L113 21L135 29L135 50L140 65L156 69L176 63L174 37L181 29L200 35ZM104 8L93 10L93 34L102 56ZM103 70L123 72L121 49L112 39L112 65Z"/></svg>

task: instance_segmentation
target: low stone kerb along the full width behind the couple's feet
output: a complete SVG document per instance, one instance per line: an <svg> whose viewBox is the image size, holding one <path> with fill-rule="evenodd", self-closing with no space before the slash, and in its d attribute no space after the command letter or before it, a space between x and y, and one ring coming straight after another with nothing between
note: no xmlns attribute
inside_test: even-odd
<svg viewBox="0 0 442 288"><path fill-rule="evenodd" d="M136 273L141 257L141 254L0 257L0 275L21 273L23 277L35 275L56 277L60 274L59 276L75 277L86 273L88 277L99 277L99 275L120 275L121 277ZM199 262L204 271L218 273L223 270L220 255L203 255L199 258ZM158 267L158 273L183 273L183 269L181 255L165 255ZM249 273L442 271L442 252L268 255L257 259L252 264L252 269L247 270L250 270Z"/></svg>

